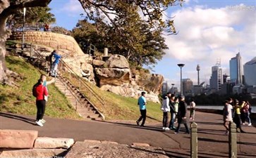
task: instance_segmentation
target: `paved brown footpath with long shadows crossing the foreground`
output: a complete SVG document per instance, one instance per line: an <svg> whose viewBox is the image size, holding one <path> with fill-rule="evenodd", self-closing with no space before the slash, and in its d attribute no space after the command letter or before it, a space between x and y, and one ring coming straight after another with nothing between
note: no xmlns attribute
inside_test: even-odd
<svg viewBox="0 0 256 158"><path fill-rule="evenodd" d="M162 131L161 123L145 124L140 127L135 121L106 122L78 121L71 119L47 120L43 127L35 126L35 116L0 112L0 129L20 129L39 131L40 137L74 138L75 140L109 140L117 143L148 143L162 147L169 157L190 157L190 135L173 134ZM200 157L228 157L228 136L224 136L222 116L197 112L195 122L198 126L198 153ZM243 126L247 133L238 133L239 157L256 157L256 128Z"/></svg>

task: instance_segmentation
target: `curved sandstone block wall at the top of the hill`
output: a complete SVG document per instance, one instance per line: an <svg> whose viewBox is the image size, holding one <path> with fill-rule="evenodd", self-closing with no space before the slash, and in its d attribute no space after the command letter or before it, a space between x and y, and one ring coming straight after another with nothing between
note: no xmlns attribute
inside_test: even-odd
<svg viewBox="0 0 256 158"><path fill-rule="evenodd" d="M11 40L21 41L23 32L12 32L10 37ZM83 51L71 36L65 34L57 34L54 32L25 32L24 34L25 42L33 44L41 44L44 46L49 46L58 50L68 50L73 53L78 53L78 55L83 55Z"/></svg>

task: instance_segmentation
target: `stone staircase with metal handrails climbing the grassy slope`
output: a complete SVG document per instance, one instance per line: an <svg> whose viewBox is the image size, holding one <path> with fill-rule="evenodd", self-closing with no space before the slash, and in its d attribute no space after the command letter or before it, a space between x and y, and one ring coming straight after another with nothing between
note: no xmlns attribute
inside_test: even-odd
<svg viewBox="0 0 256 158"><path fill-rule="evenodd" d="M8 48L11 50L11 48ZM23 58L27 59L35 67L49 72L49 64L47 65L47 61L45 60L44 56L41 53L45 53L46 50L44 48L37 48L37 50L33 50L30 52L30 47L28 46L25 51L21 51L21 49L15 49L18 55L22 56ZM33 54L31 56L31 54ZM60 73L56 77L55 86L63 93L68 100L70 100L71 105L74 109L80 114L80 117L84 119L91 119L91 120L104 120L104 115L99 112L97 107L93 105L90 100L80 93L78 88L73 86L71 81L69 81L66 77L63 77Z"/></svg>

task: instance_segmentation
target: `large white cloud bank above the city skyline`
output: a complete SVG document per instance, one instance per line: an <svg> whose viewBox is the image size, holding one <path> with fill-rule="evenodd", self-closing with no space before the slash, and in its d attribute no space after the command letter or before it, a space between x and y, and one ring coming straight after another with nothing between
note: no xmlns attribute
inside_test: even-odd
<svg viewBox="0 0 256 158"><path fill-rule="evenodd" d="M196 64L200 64L200 74L208 80L217 58L221 58L221 66L229 74L229 60L238 51L243 63L256 56L255 10L195 6L182 8L170 16L175 16L179 33L166 37L169 50L165 57L185 62L184 74L194 83L197 82Z"/></svg>

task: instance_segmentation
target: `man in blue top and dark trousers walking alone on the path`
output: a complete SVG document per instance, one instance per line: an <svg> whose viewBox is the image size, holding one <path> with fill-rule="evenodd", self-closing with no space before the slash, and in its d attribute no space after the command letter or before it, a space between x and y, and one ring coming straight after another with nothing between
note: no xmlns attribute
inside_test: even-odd
<svg viewBox="0 0 256 158"><path fill-rule="evenodd" d="M140 118L136 121L138 126L144 126L145 121L146 121L146 114L147 114L147 110L146 110L146 104L147 104L147 100L145 98L146 96L146 92L142 91L141 96L138 100L138 105L140 106ZM140 125L140 121L142 120L142 124Z"/></svg>

